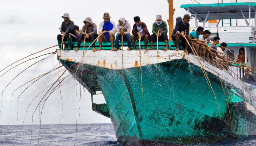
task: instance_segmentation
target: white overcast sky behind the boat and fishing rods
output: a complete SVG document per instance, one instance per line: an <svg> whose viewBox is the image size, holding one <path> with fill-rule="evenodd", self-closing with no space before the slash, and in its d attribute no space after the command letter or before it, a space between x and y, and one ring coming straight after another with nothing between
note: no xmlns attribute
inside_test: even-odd
<svg viewBox="0 0 256 146"><path fill-rule="evenodd" d="M206 0L197 1L199 3L218 3L218 0L209 0L207 2ZM226 3L230 1L233 2L233 0L224 0ZM249 0L242 0L241 2L248 1ZM174 0L174 8L176 8L174 18L183 16L186 13L184 9L180 8L181 4L192 3L195 3L195 1ZM168 19L168 3L167 0L129 0L124 2L120 0L2 0L0 4L0 70L19 58L46 47L56 45L57 34L60 34L58 28L61 26L61 22L63 22L61 16L64 13L69 13L71 20L82 28L83 20L88 16L98 25L103 20L102 16L104 12L109 12L112 17L111 20L116 23L120 16L124 16L133 24L133 17L138 15L141 20L147 24L148 29L151 30L156 15L161 14L164 20ZM195 20L191 21L191 26L195 26ZM42 54L53 52L56 49L57 47L54 47L48 51L44 51ZM36 61L38 61L38 59L28 61L26 64L0 77L0 91L3 91L5 86L18 73ZM33 84L19 97L19 102L17 102L17 97L25 88L15 91L13 98L12 92L30 79L56 68L57 63L56 55L51 55L15 78L3 92L0 125L22 124L23 122L25 124L31 124L31 116L40 98L44 96L44 93L41 93L28 108L27 106L39 92L57 79L58 72L53 72L49 76L38 80L38 82ZM0 76L4 71L0 72ZM66 73L65 76L66 75L68 75L68 73ZM44 106L41 123L76 123L79 117L79 110L77 110L79 87L78 82L74 79L69 79L65 82L65 85L61 87L63 95L62 102L59 90L57 90L53 96L50 96ZM104 102L103 97L100 95L94 97L94 100L97 103ZM28 109L27 114L26 109ZM62 112L63 116L60 120ZM91 110L90 94L88 91L82 91L79 123L110 122L109 118ZM39 110L34 114L33 123L39 123Z"/></svg>

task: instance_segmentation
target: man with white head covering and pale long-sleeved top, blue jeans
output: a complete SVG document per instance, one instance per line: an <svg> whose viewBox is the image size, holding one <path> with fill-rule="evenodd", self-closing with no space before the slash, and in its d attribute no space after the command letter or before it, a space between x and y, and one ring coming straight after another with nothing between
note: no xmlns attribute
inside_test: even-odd
<svg viewBox="0 0 256 146"><path fill-rule="evenodd" d="M123 31L122 31L123 26ZM116 35L116 41L115 41L115 49L117 50L119 47L119 41L121 41L121 36L123 35L123 40L127 41L128 48L127 50L131 50L131 25L128 23L128 20L126 20L124 17L120 17L118 19L118 24L116 25L117 28L117 35Z"/></svg>

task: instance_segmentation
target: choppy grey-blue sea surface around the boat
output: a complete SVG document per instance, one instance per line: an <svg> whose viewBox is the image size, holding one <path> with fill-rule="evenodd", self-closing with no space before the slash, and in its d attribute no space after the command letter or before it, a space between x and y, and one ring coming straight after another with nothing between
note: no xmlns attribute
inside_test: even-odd
<svg viewBox="0 0 256 146"><path fill-rule="evenodd" d="M112 124L0 126L0 146L122 146ZM256 146L256 136L190 146Z"/></svg>

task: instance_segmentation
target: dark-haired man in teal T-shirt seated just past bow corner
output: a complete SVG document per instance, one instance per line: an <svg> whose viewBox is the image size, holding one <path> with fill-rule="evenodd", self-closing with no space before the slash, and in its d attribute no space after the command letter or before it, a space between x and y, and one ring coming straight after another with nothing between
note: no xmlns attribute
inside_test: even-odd
<svg viewBox="0 0 256 146"><path fill-rule="evenodd" d="M193 42L193 46L195 48L196 53L200 57L202 54L202 46L207 47L207 43L197 41L199 39L199 35L201 35L203 33L203 30L204 30L204 28L202 26L199 26L199 27L197 27L196 31L192 31L189 34L192 39L196 39L196 40L193 40L192 42Z"/></svg>

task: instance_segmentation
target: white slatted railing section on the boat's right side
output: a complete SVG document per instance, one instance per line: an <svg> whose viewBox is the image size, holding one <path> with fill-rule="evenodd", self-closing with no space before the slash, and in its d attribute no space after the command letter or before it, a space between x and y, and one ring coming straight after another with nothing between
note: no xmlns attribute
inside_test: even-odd
<svg viewBox="0 0 256 146"><path fill-rule="evenodd" d="M246 64L232 64L233 66L229 66L229 73L236 79L240 80L244 76L244 69L240 67L240 65Z"/></svg>

